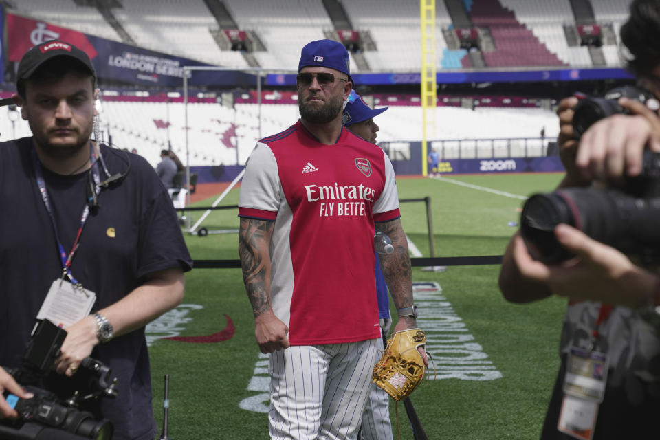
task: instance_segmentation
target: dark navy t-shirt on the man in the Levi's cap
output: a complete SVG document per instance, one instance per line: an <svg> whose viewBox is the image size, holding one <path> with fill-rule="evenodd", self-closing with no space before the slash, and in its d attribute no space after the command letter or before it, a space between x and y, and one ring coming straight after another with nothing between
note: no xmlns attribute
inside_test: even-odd
<svg viewBox="0 0 660 440"><path fill-rule="evenodd" d="M50 285L62 274L53 225L39 194L31 155L32 137L0 143L0 365L19 365ZM71 266L72 274L96 293L92 311L129 294L152 272L190 270L172 201L153 168L139 155L102 147L111 174L131 168L120 184L100 192ZM128 156L126 156L128 155ZM104 172L101 170L101 179ZM43 170L58 235L71 250L86 203L88 173L62 176ZM81 407L110 419L113 439L153 439L151 376L144 328L100 344L91 354L118 377L118 397ZM85 392L85 375L52 374L43 386L60 397ZM81 389L82 388L82 389Z"/></svg>

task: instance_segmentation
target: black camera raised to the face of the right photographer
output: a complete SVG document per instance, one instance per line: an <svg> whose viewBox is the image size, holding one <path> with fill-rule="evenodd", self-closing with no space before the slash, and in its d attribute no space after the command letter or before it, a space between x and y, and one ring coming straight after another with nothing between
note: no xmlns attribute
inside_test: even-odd
<svg viewBox="0 0 660 440"><path fill-rule="evenodd" d="M623 114L628 115L630 111L619 105L619 98L630 98L646 104L646 107L658 113L660 103L645 89L626 85L608 91L602 98L575 94L580 102L573 107L573 133L580 139L587 129L595 122L608 116Z"/></svg>

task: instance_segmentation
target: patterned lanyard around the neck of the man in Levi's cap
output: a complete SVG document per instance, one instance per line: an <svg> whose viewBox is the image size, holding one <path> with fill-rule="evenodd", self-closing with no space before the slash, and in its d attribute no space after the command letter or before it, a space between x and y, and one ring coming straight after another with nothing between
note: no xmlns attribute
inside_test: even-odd
<svg viewBox="0 0 660 440"><path fill-rule="evenodd" d="M99 186L101 178L98 170L98 163L97 163L98 158L96 157L96 152L94 151L91 142L89 142L89 148L90 148L89 159L92 162L91 173L94 176L94 183L96 184L94 190L96 191L96 196L98 197L101 191L101 187ZM43 165L41 164L39 157L36 155L35 149L32 149L32 161L34 162L36 185L39 187L39 193L41 194L41 199L43 200L43 204L46 207L48 216L50 217L50 221L53 225L53 231L55 232L55 240L57 241L57 248L60 254L60 259L62 261L62 276L65 275L68 276L69 280L71 280L71 282L74 285L78 285L78 280L74 278L71 272L71 263L72 260L74 259L74 254L76 253L76 250L78 250L78 247L80 246L80 234L83 233L83 227L85 226L85 222L87 222L87 218L89 217L89 204L85 203L83 214L80 216L80 226L78 227L78 234L76 234L76 240L74 241L74 245L72 246L71 252L69 252L69 254L67 255L67 252L65 252L64 246L62 245L62 241L60 240L59 234L57 232L57 224L55 221L53 206L50 201L50 197L48 196L48 190L46 189L46 181L43 178L43 169L42 169Z"/></svg>

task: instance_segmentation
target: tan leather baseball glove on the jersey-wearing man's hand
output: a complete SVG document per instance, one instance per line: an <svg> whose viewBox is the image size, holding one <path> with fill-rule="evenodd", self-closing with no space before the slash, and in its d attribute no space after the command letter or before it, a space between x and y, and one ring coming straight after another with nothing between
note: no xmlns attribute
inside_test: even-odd
<svg viewBox="0 0 660 440"><path fill-rule="evenodd" d="M426 348L426 334L420 329L397 331L373 366L373 382L397 401L406 399L424 377L426 367L417 351L420 345Z"/></svg>

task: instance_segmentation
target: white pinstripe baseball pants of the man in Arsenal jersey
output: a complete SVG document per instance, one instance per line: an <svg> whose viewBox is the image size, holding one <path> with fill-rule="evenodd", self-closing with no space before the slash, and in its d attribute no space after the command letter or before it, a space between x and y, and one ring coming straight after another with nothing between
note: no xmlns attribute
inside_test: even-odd
<svg viewBox="0 0 660 440"><path fill-rule="evenodd" d="M360 427L378 339L271 353L268 430L277 440L349 440Z"/></svg>

